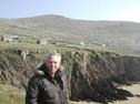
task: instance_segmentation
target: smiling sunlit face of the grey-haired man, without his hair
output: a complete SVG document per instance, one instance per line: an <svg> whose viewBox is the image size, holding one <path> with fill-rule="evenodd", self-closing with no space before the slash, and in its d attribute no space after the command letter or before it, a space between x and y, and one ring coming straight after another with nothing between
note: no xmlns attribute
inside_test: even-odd
<svg viewBox="0 0 140 104"><path fill-rule="evenodd" d="M60 66L60 59L56 55L50 56L48 61L48 69L50 74L53 76Z"/></svg>

